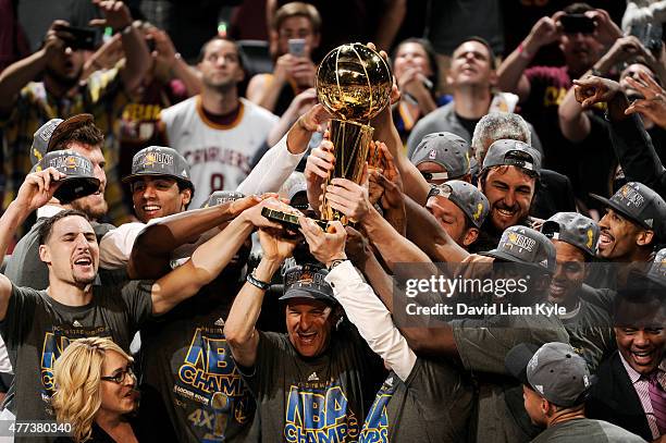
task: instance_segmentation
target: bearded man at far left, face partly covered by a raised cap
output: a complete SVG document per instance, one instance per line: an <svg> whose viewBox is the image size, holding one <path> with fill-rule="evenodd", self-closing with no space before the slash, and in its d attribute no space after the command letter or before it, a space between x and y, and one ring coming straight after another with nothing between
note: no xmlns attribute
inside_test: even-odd
<svg viewBox="0 0 666 443"><path fill-rule="evenodd" d="M52 199L37 209L37 222L16 244L4 272L17 286L41 291L49 285L49 270L39 259L39 229L50 217L65 209L82 211L91 221L98 242L113 229L110 224L96 222L106 216L108 209L104 200L107 163L102 153L103 139L103 134L92 123L90 114L74 115L65 121L52 119L35 133L30 147L30 158L35 164L47 152L70 149L90 160L100 185L99 190L92 195L77 198L66 205Z"/></svg>

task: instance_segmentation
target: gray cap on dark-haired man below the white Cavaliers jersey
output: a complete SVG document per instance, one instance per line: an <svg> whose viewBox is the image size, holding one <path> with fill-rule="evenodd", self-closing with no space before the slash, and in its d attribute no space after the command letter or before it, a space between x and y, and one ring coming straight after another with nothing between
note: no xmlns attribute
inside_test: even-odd
<svg viewBox="0 0 666 443"><path fill-rule="evenodd" d="M144 175L163 175L192 185L189 164L178 151L164 146L149 146L132 158L132 174L123 177L130 183Z"/></svg>

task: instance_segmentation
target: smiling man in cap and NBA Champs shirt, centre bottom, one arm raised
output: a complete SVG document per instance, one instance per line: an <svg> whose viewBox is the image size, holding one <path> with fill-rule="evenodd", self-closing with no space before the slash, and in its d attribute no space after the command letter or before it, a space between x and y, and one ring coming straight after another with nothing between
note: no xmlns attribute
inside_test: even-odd
<svg viewBox="0 0 666 443"><path fill-rule="evenodd" d="M357 441L379 387L379 358L342 320L326 271L314 266L286 271L287 333L257 331L267 282L294 248L263 231L259 238L263 257L236 296L224 335L257 402L261 441Z"/></svg>

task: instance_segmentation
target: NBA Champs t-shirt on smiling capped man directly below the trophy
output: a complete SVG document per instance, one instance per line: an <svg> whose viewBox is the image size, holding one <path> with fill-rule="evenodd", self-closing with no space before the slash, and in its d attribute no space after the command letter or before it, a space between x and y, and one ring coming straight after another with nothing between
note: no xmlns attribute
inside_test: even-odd
<svg viewBox="0 0 666 443"><path fill-rule="evenodd" d="M358 332L343 325L323 355L308 359L287 335L259 334L256 365L242 374L257 402L261 441L357 441L384 374Z"/></svg>

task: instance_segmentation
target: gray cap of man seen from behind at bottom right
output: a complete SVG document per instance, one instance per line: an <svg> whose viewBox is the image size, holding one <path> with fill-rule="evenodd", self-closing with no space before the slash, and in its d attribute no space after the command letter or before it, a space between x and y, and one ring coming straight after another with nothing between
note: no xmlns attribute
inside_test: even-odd
<svg viewBox="0 0 666 443"><path fill-rule="evenodd" d="M566 343L534 347L522 343L509 350L504 360L508 372L557 406L583 403L593 382L585 360Z"/></svg>

